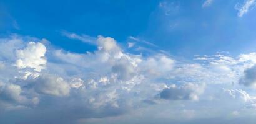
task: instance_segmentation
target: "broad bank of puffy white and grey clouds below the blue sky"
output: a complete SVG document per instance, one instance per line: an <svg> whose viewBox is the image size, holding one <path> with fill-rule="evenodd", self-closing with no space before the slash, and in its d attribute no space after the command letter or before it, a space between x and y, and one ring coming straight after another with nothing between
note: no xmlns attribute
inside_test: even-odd
<svg viewBox="0 0 256 124"><path fill-rule="evenodd" d="M81 54L46 39L2 37L0 122L231 123L255 115L256 53L184 62L134 55L111 37L99 35L96 44Z"/></svg>

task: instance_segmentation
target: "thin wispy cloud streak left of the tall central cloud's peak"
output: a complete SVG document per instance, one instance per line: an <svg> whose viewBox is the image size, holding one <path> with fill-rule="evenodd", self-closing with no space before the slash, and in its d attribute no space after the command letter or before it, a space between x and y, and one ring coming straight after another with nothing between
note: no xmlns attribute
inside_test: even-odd
<svg viewBox="0 0 256 124"><path fill-rule="evenodd" d="M67 32L67 31L62 31L61 34L66 36L67 38L71 38L74 40L80 40L81 42L84 42L84 43L96 45L96 40L97 40L96 37L91 37L91 36L85 35L85 34L77 35L76 33L71 33L71 32Z"/></svg>

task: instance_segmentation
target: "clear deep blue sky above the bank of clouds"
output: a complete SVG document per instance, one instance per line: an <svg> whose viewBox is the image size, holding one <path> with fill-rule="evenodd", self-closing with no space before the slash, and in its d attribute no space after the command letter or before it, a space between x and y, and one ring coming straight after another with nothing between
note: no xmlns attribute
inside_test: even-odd
<svg viewBox="0 0 256 124"><path fill-rule="evenodd" d="M255 47L255 10L238 17L244 1L1 1L1 32L47 38L53 45L83 53L86 43L62 37L67 30L92 37L129 36L147 40L172 55L238 55Z"/></svg>

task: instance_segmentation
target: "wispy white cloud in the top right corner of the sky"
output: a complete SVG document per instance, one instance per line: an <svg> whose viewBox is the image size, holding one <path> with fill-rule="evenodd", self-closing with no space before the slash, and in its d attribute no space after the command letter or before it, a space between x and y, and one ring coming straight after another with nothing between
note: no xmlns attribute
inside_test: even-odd
<svg viewBox="0 0 256 124"><path fill-rule="evenodd" d="M239 17L242 17L244 14L246 14L250 8L252 8L255 5L255 0L246 0L244 4L236 4L235 9L237 9L239 12L237 15Z"/></svg>

